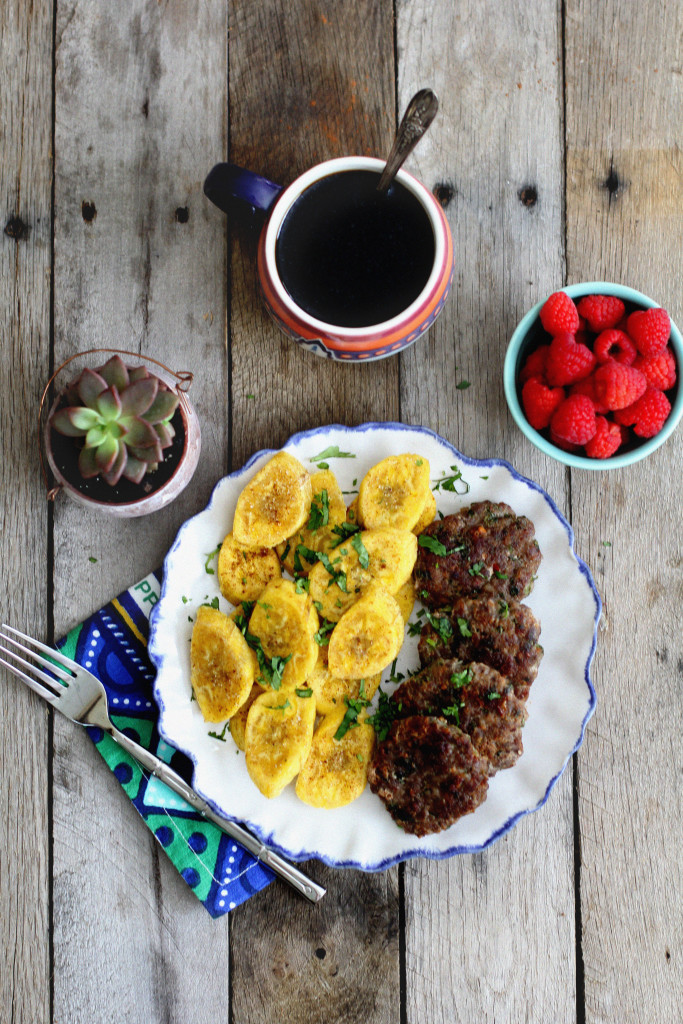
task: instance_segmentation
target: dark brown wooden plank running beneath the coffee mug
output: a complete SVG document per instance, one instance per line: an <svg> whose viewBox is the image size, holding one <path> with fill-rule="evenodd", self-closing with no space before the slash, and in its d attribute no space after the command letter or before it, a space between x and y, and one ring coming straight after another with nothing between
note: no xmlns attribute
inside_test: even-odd
<svg viewBox="0 0 683 1024"><path fill-rule="evenodd" d="M287 183L329 157L386 152L394 124L392 42L384 0L238 0L230 159ZM244 225L232 233L232 464L302 428L396 419L397 360L338 366L298 351L261 308L256 233ZM329 886L316 907L271 886L233 913L233 1019L397 1020L396 870L365 877L309 866Z"/></svg>

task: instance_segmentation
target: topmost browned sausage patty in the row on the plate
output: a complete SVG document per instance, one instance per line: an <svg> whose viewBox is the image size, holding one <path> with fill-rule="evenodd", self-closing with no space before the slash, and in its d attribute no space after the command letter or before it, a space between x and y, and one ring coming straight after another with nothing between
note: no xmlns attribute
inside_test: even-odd
<svg viewBox="0 0 683 1024"><path fill-rule="evenodd" d="M436 519L418 545L415 586L429 608L483 591L521 599L541 564L533 523L503 502L475 502Z"/></svg>

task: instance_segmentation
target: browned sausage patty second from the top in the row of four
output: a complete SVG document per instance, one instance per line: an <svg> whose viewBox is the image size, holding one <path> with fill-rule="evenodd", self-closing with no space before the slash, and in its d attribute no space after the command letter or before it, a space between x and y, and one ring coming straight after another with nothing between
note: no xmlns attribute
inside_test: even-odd
<svg viewBox="0 0 683 1024"><path fill-rule="evenodd" d="M501 597L461 597L430 612L418 644L420 660L482 662L510 680L525 700L543 657L541 625L525 604Z"/></svg>

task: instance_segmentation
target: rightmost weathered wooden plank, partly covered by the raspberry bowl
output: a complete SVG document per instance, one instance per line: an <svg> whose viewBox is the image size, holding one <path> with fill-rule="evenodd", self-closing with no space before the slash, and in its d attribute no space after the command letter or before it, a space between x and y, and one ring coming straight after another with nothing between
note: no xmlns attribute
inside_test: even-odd
<svg viewBox="0 0 683 1024"><path fill-rule="evenodd" d="M631 285L680 324L683 8L566 11L569 280ZM679 430L631 469L572 479L606 627L579 770L587 1024L681 1017L682 472Z"/></svg>

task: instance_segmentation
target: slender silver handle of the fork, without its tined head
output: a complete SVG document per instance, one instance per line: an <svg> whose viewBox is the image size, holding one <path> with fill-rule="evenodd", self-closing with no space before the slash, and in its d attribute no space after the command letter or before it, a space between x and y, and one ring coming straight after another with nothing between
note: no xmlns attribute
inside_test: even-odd
<svg viewBox="0 0 683 1024"><path fill-rule="evenodd" d="M285 860L284 857L281 857L274 850L270 850L267 846L264 846L259 839L252 836L243 825L238 824L237 821L230 821L229 818L224 818L220 814L216 814L209 804L185 782L184 778L178 775L165 761L162 761L161 758L145 750L144 746L140 746L134 739L127 736L125 732L120 732L116 728L108 731L112 738L130 754L131 757L135 758L143 768L153 775L156 775L162 782L165 782L170 790L177 793L183 800L186 800L196 811L199 811L202 817L213 821L226 836L241 843L257 860L269 867L271 871L287 882L288 885L292 886L293 889L296 889L298 893L305 896L311 903L317 903L318 900L323 899L327 892L323 886L318 886L316 882L313 882L303 871L299 870L298 867Z"/></svg>

